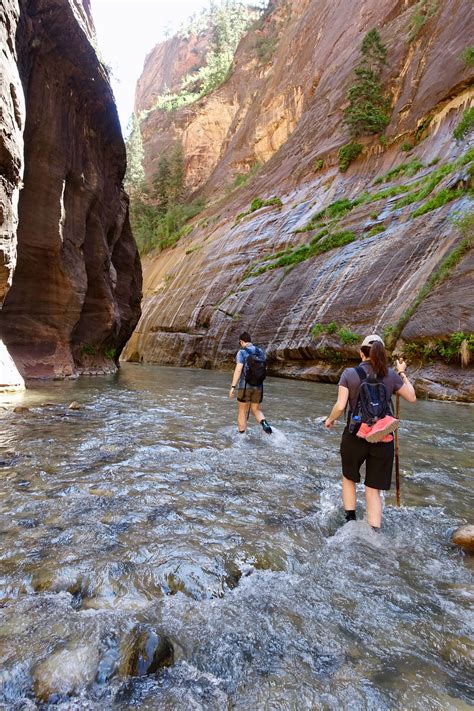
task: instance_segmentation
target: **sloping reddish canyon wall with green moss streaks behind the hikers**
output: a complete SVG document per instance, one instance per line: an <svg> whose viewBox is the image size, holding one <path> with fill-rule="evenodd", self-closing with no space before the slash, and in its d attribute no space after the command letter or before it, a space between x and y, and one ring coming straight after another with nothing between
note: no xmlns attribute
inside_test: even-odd
<svg viewBox="0 0 474 711"><path fill-rule="evenodd" d="M143 314L125 357L229 367L246 329L274 374L335 382L357 358L357 336L378 331L410 356L420 394L474 399L472 368L447 350L462 336L468 349L474 331L474 156L469 135L453 137L474 98L461 58L473 21L469 0L274 3L221 87L150 112L148 179L160 146L181 140L188 192L208 206L144 260ZM347 91L372 28L387 47L391 120L341 172ZM275 49L262 61L265 41ZM251 210L256 197L278 200Z"/></svg>

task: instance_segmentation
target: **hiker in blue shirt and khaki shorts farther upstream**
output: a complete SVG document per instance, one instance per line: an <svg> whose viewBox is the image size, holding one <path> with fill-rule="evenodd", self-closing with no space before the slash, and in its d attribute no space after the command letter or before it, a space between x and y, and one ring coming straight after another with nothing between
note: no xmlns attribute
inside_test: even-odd
<svg viewBox="0 0 474 711"><path fill-rule="evenodd" d="M265 353L261 348L253 345L247 331L240 334L239 346L240 350L235 359L237 365L229 391L229 398L232 399L237 390L239 433L245 433L247 420L252 412L257 422L262 425L264 432L271 434L272 428L260 409L260 403L263 400L263 381L267 373Z"/></svg>

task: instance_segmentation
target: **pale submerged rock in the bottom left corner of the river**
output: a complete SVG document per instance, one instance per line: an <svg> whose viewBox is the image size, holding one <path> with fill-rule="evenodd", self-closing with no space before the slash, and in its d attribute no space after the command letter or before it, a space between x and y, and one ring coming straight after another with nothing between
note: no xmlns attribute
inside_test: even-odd
<svg viewBox="0 0 474 711"><path fill-rule="evenodd" d="M33 669L33 689L39 701L72 694L94 681L99 662L97 649L82 645L60 649Z"/></svg>

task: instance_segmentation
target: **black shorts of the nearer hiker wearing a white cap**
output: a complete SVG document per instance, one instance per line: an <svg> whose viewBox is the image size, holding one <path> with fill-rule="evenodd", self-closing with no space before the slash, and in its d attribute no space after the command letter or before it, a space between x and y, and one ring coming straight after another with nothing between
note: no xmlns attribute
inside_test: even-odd
<svg viewBox="0 0 474 711"><path fill-rule="evenodd" d="M393 439L391 442L371 444L366 439L351 434L347 427L342 433L342 473L346 479L359 483L360 468L365 462L364 484L372 489L388 491L392 483L393 457Z"/></svg>

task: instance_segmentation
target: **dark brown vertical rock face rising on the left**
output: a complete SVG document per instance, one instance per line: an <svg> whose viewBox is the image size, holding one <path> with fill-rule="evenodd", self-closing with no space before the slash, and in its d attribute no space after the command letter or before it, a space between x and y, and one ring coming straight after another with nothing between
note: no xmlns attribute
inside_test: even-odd
<svg viewBox="0 0 474 711"><path fill-rule="evenodd" d="M24 176L2 338L27 377L112 371L139 318L141 268L122 189L125 149L91 44L89 5L6 7L26 120L11 152L20 161L23 153Z"/></svg>

